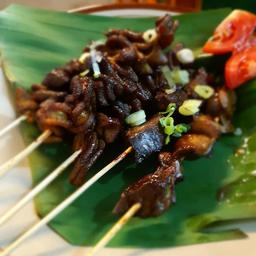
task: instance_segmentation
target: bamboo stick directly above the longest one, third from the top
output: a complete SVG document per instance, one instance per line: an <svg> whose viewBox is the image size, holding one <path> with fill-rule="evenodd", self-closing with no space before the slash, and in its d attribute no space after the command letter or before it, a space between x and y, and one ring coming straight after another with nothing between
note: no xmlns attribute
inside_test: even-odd
<svg viewBox="0 0 256 256"><path fill-rule="evenodd" d="M28 194L26 194L18 203L9 209L1 218L0 226L9 220L16 212L18 212L24 205L40 193L48 184L55 180L81 153L81 150L75 151L69 158L67 158L61 165L59 165L53 172L51 172L45 179L36 185Z"/></svg>

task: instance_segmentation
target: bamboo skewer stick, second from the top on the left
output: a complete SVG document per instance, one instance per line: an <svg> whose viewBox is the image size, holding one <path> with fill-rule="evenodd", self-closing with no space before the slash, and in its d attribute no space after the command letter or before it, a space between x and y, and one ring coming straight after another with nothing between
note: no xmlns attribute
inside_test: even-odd
<svg viewBox="0 0 256 256"><path fill-rule="evenodd" d="M39 145L41 145L50 135L51 131L44 131L35 141L33 141L23 151L21 151L16 156L2 164L0 166L0 177L3 176L9 169L18 164L21 160L23 160L26 156L28 156L33 150L35 150Z"/></svg>

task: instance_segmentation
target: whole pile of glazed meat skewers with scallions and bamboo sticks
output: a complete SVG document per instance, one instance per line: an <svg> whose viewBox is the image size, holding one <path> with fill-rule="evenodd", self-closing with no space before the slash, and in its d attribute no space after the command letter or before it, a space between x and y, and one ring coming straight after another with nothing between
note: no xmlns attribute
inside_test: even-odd
<svg viewBox="0 0 256 256"><path fill-rule="evenodd" d="M0 175L43 142L72 138L74 153L1 217L0 224L72 162L70 182L79 187L0 255L7 255L52 220L131 152L138 164L152 154L158 154L159 163L154 173L123 191L114 212L126 213L121 222L133 215L162 214L175 203L175 185L183 178L182 160L209 154L216 139L232 131L234 93L203 68L195 68L190 49L182 44L169 48L177 27L177 21L165 15L145 32L109 30L105 42L92 42L79 59L52 70L31 91L17 88L21 116L1 134L26 120L36 123L42 135L0 166ZM119 138L124 138L127 150L86 181L93 164ZM96 249L119 228L120 223Z"/></svg>

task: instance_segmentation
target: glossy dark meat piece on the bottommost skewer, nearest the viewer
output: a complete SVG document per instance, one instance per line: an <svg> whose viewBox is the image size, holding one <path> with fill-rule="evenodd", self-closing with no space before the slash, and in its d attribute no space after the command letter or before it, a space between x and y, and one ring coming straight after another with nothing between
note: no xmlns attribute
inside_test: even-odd
<svg viewBox="0 0 256 256"><path fill-rule="evenodd" d="M114 213L122 215L133 204L140 203L137 216L146 218L159 216L169 208L173 201L175 177L179 169L178 161L168 166L160 166L156 172L149 174L126 188Z"/></svg>

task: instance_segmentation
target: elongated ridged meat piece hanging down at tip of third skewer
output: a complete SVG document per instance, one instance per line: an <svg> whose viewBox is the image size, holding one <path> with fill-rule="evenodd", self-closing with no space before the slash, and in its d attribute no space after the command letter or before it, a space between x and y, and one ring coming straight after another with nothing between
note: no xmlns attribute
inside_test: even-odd
<svg viewBox="0 0 256 256"><path fill-rule="evenodd" d="M81 155L76 160L75 166L70 174L70 182L76 186L84 183L86 174L105 148L105 142L98 139L97 134L81 133L74 139L74 150L82 149Z"/></svg>

